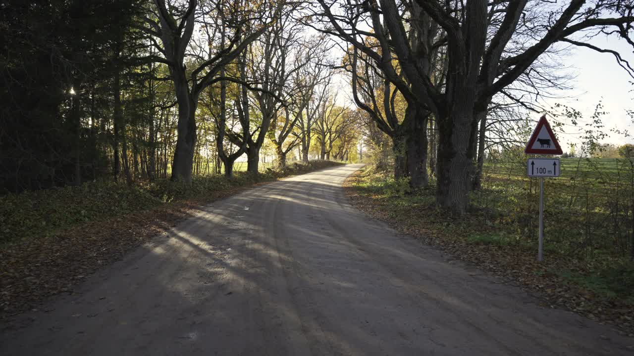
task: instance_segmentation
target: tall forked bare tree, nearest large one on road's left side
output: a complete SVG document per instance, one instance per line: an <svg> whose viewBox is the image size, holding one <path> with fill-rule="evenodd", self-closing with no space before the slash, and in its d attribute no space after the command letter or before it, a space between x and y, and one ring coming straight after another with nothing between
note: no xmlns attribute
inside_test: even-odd
<svg viewBox="0 0 634 356"><path fill-rule="evenodd" d="M200 93L214 82L226 80L221 70L256 41L275 23L279 4L251 4L245 0L202 1L155 0L152 16L146 17L145 32L151 35L162 56L150 58L169 67L178 101L178 140L172 164L172 180L191 182L191 168L196 146L196 109ZM190 51L190 42L200 14L214 19L231 32L217 46L215 53L198 58ZM215 33L212 31L212 33ZM161 44L155 40L160 39ZM220 41L219 35L213 41ZM186 65L193 68L187 69Z"/></svg>

